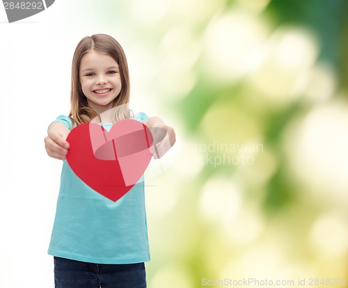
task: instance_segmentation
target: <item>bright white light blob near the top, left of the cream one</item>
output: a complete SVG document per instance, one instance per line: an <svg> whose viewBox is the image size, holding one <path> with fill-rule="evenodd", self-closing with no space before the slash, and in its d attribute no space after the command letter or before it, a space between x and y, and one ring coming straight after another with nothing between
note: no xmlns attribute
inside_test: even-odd
<svg viewBox="0 0 348 288"><path fill-rule="evenodd" d="M248 59L267 39L266 25L242 12L212 19L206 35L205 65L208 77L221 82L237 81L249 69Z"/></svg>

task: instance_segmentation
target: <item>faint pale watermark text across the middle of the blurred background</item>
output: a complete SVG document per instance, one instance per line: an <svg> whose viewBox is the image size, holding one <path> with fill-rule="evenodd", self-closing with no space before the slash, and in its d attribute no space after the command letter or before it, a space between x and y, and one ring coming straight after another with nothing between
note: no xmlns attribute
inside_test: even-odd
<svg viewBox="0 0 348 288"><path fill-rule="evenodd" d="M250 166L258 153L264 152L262 143L187 143L184 145L184 162L187 164L217 166Z"/></svg>

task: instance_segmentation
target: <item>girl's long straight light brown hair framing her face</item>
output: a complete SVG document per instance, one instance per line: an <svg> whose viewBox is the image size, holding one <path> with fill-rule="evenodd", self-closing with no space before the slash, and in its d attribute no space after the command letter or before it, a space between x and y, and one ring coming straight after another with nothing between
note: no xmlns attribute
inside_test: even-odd
<svg viewBox="0 0 348 288"><path fill-rule="evenodd" d="M120 43L118 43L110 35L95 34L86 36L77 45L74 56L72 58L72 74L71 74L71 93L70 93L70 113L69 117L72 120L72 127L74 124L90 122L95 117L101 121L100 115L88 106L87 98L82 92L80 83L80 64L81 58L89 51L95 50L97 52L111 56L120 67L120 77L122 88L120 94L113 100L114 121L129 118L130 111L128 109L129 103L129 72L127 58L125 51L123 51Z"/></svg>

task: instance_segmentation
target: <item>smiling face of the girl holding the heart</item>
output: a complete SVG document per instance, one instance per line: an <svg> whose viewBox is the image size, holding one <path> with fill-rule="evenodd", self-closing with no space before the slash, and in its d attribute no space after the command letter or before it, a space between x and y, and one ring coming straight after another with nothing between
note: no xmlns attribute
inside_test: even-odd
<svg viewBox="0 0 348 288"><path fill-rule="evenodd" d="M87 52L81 58L79 79L90 108L99 114L112 108L122 83L120 67L111 56L94 50Z"/></svg>

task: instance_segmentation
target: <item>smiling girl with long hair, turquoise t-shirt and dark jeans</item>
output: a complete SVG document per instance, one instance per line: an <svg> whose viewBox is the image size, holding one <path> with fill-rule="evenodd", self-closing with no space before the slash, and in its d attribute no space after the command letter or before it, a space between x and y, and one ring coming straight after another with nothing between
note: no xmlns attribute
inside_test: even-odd
<svg viewBox="0 0 348 288"><path fill-rule="evenodd" d="M175 143L175 132L160 118L132 115L125 53L109 35L85 37L77 45L70 102L70 114L58 116L45 138L47 154L64 160L48 250L54 256L55 287L146 287L144 262L150 261L150 251L143 182L117 202L96 193L65 161L66 138L85 122L97 122L109 131L115 122L132 118L166 131L161 141L157 139L163 136L152 133L155 145L150 152L157 159Z"/></svg>

